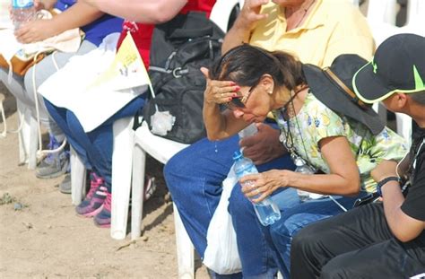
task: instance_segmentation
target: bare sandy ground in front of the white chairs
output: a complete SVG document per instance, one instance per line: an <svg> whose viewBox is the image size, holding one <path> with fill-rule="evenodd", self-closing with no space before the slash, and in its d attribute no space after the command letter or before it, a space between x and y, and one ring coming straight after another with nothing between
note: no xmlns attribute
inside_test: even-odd
<svg viewBox="0 0 425 279"><path fill-rule="evenodd" d="M17 126L14 98L6 94L9 129ZM3 129L3 124L1 124ZM112 240L108 229L74 214L63 179L37 179L18 165L15 134L0 138L0 278L177 278L174 220L162 165L148 161L159 187L144 205L143 235ZM9 198L11 197L11 198ZM23 205L22 209L15 209ZM199 261L196 278L208 278Z"/></svg>

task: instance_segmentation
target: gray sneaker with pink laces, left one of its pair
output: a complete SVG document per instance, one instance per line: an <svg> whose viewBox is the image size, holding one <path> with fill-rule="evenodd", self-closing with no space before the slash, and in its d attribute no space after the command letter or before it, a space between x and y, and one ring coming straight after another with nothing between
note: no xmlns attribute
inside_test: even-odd
<svg viewBox="0 0 425 279"><path fill-rule="evenodd" d="M76 213L83 217L99 214L108 195L108 188L102 178L91 172L90 180L89 193L85 196L82 203L75 207Z"/></svg>

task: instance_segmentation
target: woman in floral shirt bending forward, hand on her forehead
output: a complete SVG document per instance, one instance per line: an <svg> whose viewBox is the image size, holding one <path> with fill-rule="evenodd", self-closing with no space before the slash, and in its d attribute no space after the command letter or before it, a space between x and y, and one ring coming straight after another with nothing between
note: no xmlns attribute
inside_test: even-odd
<svg viewBox="0 0 425 279"><path fill-rule="evenodd" d="M281 209L281 220L260 227L284 275L290 274L292 237L308 223L343 213L355 198L374 192L370 171L380 161L400 160L406 152L403 138L383 126L373 109L360 107L326 75L331 72L352 91L352 75L366 62L357 55L342 55L322 70L284 52L242 45L210 71L202 70L207 77L204 122L210 140L235 135L272 112L282 148L294 161L316 170L267 170L239 180L242 185L253 181L242 192L254 203L272 195ZM227 109L221 109L223 105ZM321 195L301 201L296 190Z"/></svg>

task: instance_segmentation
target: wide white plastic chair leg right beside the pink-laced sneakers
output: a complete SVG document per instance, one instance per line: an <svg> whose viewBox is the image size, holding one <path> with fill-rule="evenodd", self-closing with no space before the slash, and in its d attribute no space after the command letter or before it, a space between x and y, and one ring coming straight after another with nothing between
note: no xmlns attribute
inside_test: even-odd
<svg viewBox="0 0 425 279"><path fill-rule="evenodd" d="M115 240L126 238L134 146L132 120L133 118L118 119L113 125L114 151L112 153L110 236Z"/></svg>

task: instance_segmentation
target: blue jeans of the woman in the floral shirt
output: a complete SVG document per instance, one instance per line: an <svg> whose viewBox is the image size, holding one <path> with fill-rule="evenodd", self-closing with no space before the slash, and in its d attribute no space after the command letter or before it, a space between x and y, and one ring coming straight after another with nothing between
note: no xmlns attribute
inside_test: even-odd
<svg viewBox="0 0 425 279"><path fill-rule="evenodd" d="M358 197L334 196L334 199L349 210ZM267 245L273 250L273 257L283 278L290 278L291 241L297 232L309 223L344 211L329 197L301 202L294 188L273 196L273 200L281 209L282 217L271 226L262 226L262 230Z"/></svg>

